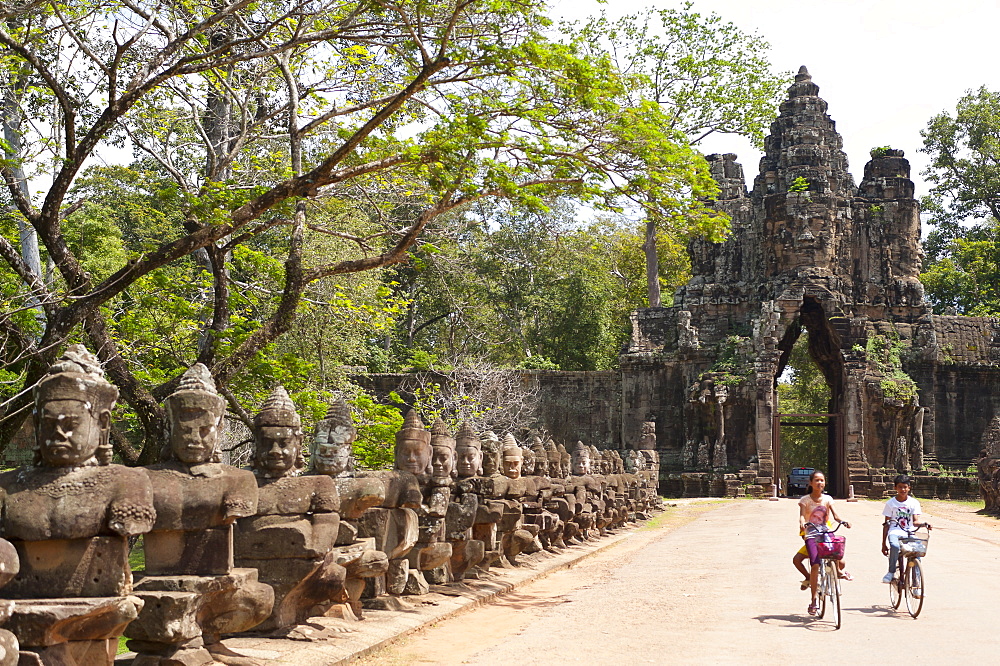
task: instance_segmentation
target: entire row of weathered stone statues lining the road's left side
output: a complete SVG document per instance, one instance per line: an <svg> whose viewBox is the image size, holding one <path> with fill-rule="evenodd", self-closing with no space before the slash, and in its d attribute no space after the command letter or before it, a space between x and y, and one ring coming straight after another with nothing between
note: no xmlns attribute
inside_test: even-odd
<svg viewBox="0 0 1000 666"><path fill-rule="evenodd" d="M223 635L285 635L306 618L399 608L430 585L516 566L659 508L654 450L572 453L534 438L452 437L410 412L395 469L355 471L345 403L318 425L277 388L254 419L253 469L219 462L226 402L198 364L164 400L163 461L111 464L117 389L82 346L35 388L36 456L0 475L0 666L254 663ZM628 471L626 471L626 469ZM142 535L133 583L130 542ZM19 661L20 660L20 661Z"/></svg>

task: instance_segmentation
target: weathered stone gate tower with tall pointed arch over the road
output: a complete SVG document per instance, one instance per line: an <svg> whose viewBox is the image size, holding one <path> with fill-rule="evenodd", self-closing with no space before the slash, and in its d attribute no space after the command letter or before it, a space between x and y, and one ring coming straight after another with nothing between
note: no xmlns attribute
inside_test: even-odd
<svg viewBox="0 0 1000 666"><path fill-rule="evenodd" d="M732 235L690 246L693 275L672 307L633 314L621 359L623 439L656 421L672 492L771 491L777 378L804 332L832 396L835 495L853 484L881 496L895 470L967 466L1000 413L997 322L935 316L924 301L903 151L873 151L855 185L826 111L802 67L751 192L735 155L709 156Z"/></svg>

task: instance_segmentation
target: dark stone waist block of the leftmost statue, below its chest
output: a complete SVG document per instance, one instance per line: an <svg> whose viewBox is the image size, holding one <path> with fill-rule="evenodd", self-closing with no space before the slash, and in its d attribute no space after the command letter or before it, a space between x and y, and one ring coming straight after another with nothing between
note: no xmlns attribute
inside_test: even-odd
<svg viewBox="0 0 1000 666"><path fill-rule="evenodd" d="M20 573L3 589L10 599L120 597L131 592L125 537L15 541Z"/></svg>

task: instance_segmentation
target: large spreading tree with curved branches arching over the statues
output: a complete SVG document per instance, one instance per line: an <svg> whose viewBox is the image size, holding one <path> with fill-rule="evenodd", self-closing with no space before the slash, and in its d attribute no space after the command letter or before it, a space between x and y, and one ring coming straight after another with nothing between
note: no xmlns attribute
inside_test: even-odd
<svg viewBox="0 0 1000 666"><path fill-rule="evenodd" d="M71 339L96 351L135 416L140 436L115 440L127 460L155 458L158 401L185 364L208 365L245 416L234 383L305 304L332 302L311 289L403 261L430 221L472 202L631 202L678 233L718 234L725 220L702 202L714 184L680 128L630 98L636 83L585 34L546 37L543 10L540 0L0 5L0 443ZM112 181L133 182L81 181L113 149L139 161ZM112 203L139 190L153 203L141 215ZM25 261L19 226L37 234L47 269ZM170 362L155 373L133 358L148 336L127 316L149 295L162 330L176 331L174 317L191 333L164 343Z"/></svg>

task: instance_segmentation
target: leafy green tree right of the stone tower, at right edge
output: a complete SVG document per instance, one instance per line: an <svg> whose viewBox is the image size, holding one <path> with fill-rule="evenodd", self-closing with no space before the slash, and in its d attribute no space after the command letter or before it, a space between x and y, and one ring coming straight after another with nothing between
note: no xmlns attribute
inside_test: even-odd
<svg viewBox="0 0 1000 666"><path fill-rule="evenodd" d="M938 312L1000 314L1000 93L970 91L921 132L934 227L921 280Z"/></svg>

